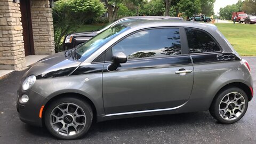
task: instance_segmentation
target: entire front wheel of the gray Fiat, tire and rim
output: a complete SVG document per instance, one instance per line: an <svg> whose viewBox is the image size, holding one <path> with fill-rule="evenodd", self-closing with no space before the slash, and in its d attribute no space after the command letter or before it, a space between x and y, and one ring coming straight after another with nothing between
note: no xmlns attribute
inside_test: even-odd
<svg viewBox="0 0 256 144"><path fill-rule="evenodd" d="M46 108L44 122L46 129L54 137L71 140L81 138L90 129L92 118L89 103L67 97L53 101Z"/></svg>

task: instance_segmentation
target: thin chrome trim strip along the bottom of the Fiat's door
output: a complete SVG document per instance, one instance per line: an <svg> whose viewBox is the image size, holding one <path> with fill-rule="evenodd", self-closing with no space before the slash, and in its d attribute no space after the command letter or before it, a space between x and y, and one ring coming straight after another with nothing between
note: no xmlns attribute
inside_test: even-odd
<svg viewBox="0 0 256 144"><path fill-rule="evenodd" d="M182 105L178 106L178 107L173 107L173 108L164 108L164 109L153 109L153 110L141 110L141 111L130 111L130 112L125 112L125 113L116 113L116 114L107 114L103 117L107 117L107 116L119 116L119 115L130 115L130 114L140 114L140 113L150 113L150 112L156 112L156 111L167 111L167 110L173 110L173 109L178 109L184 105L186 105L188 101L186 101L185 103L183 103Z"/></svg>

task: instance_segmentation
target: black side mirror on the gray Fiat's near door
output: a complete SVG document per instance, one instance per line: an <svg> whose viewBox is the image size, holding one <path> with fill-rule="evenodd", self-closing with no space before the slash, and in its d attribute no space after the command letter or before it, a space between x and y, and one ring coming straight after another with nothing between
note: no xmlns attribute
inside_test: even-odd
<svg viewBox="0 0 256 144"><path fill-rule="evenodd" d="M111 63L108 66L109 71L116 70L120 66L120 63L125 63L127 61L127 57L123 52L117 52L113 54L112 58L113 58L113 63Z"/></svg>

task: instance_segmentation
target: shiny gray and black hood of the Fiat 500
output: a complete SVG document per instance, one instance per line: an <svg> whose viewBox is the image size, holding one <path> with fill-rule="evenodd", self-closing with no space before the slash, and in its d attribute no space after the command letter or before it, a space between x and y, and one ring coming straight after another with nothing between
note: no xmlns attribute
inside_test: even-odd
<svg viewBox="0 0 256 144"><path fill-rule="evenodd" d="M41 79L69 75L81 62L67 59L65 52L59 52L39 60L24 76L35 75L37 79Z"/></svg>

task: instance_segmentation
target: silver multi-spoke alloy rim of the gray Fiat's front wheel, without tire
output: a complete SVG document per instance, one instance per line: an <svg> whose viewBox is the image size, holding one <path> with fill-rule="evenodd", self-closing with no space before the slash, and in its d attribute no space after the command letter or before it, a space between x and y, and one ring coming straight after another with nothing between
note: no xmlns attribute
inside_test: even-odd
<svg viewBox="0 0 256 144"><path fill-rule="evenodd" d="M61 103L51 111L50 124L58 134L71 136L84 129L86 115L84 110L74 103Z"/></svg>

